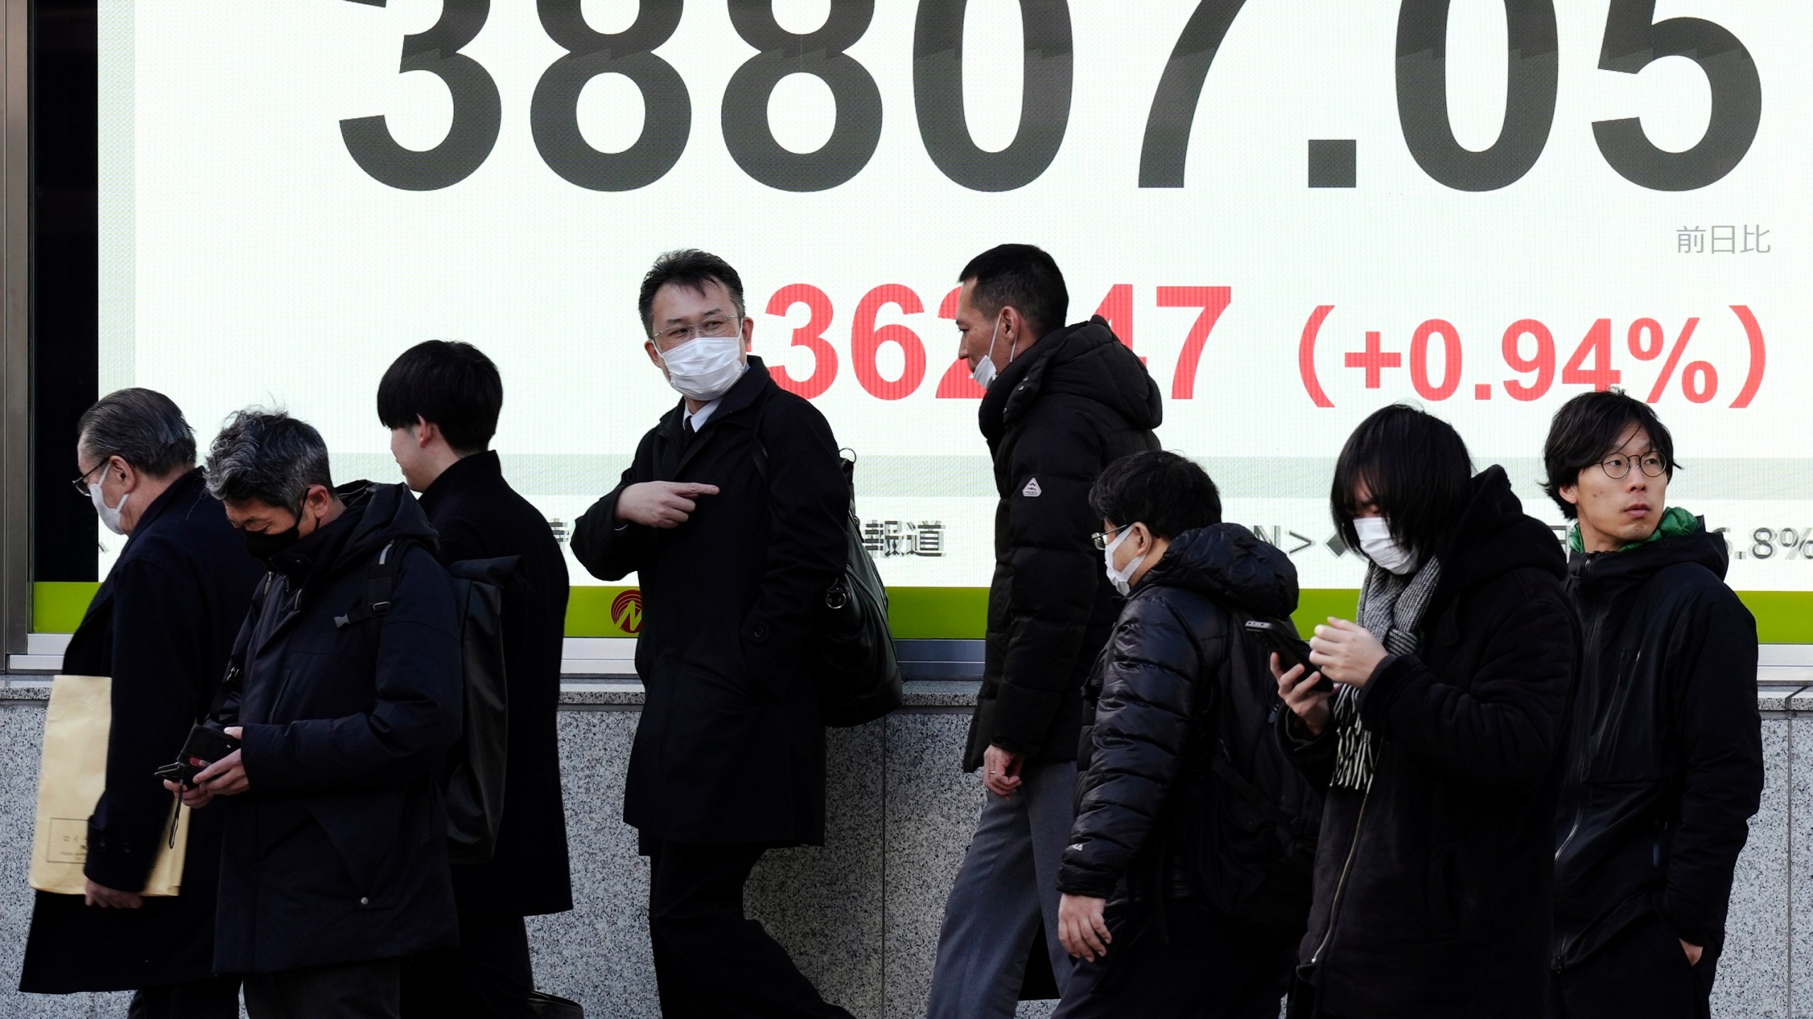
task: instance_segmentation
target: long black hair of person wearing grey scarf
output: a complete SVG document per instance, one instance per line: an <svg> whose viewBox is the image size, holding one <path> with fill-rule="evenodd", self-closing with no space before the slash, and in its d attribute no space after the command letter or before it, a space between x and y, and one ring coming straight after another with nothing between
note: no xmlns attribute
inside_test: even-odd
<svg viewBox="0 0 1813 1019"><path fill-rule="evenodd" d="M1429 562L1467 508L1470 480L1472 457L1452 424L1414 406L1392 404L1372 412L1342 446L1329 513L1347 548L1360 548L1354 486L1363 482L1391 524L1391 537L1418 562Z"/></svg>

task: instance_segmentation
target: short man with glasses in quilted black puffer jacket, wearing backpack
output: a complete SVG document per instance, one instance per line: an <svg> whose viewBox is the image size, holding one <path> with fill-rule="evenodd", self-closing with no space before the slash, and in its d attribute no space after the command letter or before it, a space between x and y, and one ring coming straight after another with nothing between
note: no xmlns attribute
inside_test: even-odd
<svg viewBox="0 0 1813 1019"><path fill-rule="evenodd" d="M1264 707L1238 705L1276 704L1235 613L1289 618L1296 568L1220 522L1215 482L1177 453L1115 461L1090 502L1104 568L1131 595L1084 689L1077 823L1057 872L1059 939L1077 963L1053 1019L1278 1019L1302 923L1222 912L1209 883L1224 870L1206 863L1209 827L1238 809L1209 778L1220 716L1262 731Z"/></svg>

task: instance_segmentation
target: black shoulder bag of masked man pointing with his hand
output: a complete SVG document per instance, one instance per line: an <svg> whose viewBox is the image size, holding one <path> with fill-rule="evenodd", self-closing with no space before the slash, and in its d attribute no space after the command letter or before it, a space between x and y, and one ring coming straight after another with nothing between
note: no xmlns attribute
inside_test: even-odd
<svg viewBox="0 0 1813 1019"><path fill-rule="evenodd" d="M756 473L769 480L769 448L761 441L767 403L756 412ZM899 653L888 629L888 589L881 584L876 560L863 546L863 520L856 515L856 453L838 459L850 488L850 517L845 520L848 557L843 575L825 587L818 626L812 635L807 669L818 676L818 704L825 725L848 727L874 722L905 704Z"/></svg>

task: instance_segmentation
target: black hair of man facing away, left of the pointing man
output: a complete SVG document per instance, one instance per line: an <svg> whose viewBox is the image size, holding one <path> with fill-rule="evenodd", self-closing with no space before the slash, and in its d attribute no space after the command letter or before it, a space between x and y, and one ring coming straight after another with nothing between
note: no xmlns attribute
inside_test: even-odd
<svg viewBox="0 0 1813 1019"><path fill-rule="evenodd" d="M377 419L384 428L412 428L422 417L441 428L455 453L488 448L502 408L504 379L470 343L417 343L377 383Z"/></svg>

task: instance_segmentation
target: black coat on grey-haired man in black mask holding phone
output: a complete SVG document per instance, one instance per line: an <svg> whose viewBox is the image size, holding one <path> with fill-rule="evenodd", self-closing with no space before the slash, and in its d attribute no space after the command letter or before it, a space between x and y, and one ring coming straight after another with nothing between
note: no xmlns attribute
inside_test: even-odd
<svg viewBox="0 0 1813 1019"><path fill-rule="evenodd" d="M272 557L221 713L250 789L228 810L216 966L267 974L459 943L437 774L461 733L453 586L401 484L343 486L344 513ZM402 555L390 609L372 562Z"/></svg>

